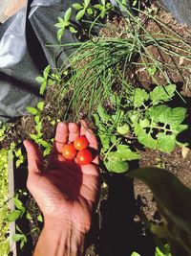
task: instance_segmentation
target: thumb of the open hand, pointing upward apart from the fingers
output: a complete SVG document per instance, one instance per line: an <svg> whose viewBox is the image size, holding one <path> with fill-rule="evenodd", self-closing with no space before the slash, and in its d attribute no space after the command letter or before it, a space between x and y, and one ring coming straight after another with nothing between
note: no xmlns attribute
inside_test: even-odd
<svg viewBox="0 0 191 256"><path fill-rule="evenodd" d="M25 140L23 144L27 151L29 175L41 174L44 171L41 151L29 140Z"/></svg>

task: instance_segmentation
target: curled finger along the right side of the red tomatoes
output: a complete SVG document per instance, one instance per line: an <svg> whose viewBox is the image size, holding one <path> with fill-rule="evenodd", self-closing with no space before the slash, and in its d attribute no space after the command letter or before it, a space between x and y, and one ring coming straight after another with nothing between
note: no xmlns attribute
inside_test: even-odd
<svg viewBox="0 0 191 256"><path fill-rule="evenodd" d="M94 160L92 161L95 164L98 164L98 145L97 145L97 140L96 136L91 128L88 128L87 123L84 120L80 121L81 124L81 129L80 129L80 134L85 135L86 138L88 139L90 145L89 147L93 150L93 156L95 156Z"/></svg>

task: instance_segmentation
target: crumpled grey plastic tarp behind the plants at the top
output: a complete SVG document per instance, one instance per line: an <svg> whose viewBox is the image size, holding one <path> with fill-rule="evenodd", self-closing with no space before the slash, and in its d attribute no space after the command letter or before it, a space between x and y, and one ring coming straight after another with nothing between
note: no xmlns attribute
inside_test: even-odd
<svg viewBox="0 0 191 256"><path fill-rule="evenodd" d="M69 52L46 47L57 44L54 24L58 16L80 0L33 0L0 25L0 121L26 114L27 105L40 100L35 77L51 64L62 64ZM115 0L112 0L113 4ZM130 2L130 1L129 1ZM159 0L180 23L191 27L191 0ZM74 42L70 32L64 43Z"/></svg>

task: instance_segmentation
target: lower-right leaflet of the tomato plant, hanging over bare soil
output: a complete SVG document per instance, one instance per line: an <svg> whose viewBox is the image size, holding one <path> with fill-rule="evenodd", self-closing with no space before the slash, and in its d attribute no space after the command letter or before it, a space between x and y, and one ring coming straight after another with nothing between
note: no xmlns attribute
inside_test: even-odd
<svg viewBox="0 0 191 256"><path fill-rule="evenodd" d="M166 135L164 133L157 134L159 150L163 152L172 152L175 149L176 145L176 136L175 135Z"/></svg>

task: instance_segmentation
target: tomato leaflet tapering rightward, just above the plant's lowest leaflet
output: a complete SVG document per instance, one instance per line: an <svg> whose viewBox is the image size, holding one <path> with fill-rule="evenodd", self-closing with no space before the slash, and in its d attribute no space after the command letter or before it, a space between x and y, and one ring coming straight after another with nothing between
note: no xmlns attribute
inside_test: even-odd
<svg viewBox="0 0 191 256"><path fill-rule="evenodd" d="M118 145L117 153L123 161L132 161L140 159L140 155L137 152L131 151L127 145Z"/></svg>

